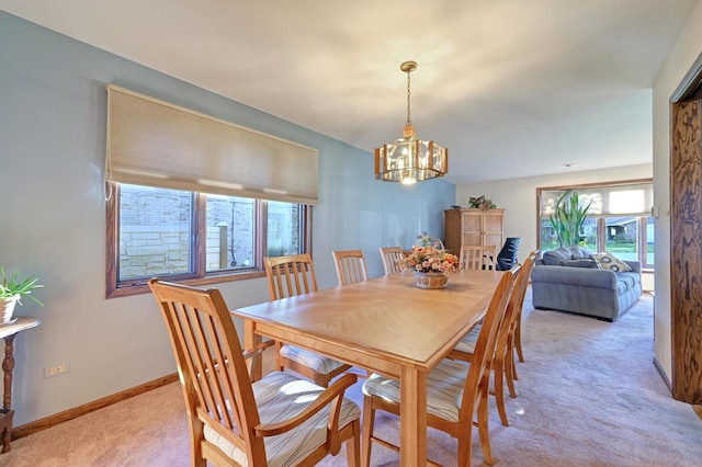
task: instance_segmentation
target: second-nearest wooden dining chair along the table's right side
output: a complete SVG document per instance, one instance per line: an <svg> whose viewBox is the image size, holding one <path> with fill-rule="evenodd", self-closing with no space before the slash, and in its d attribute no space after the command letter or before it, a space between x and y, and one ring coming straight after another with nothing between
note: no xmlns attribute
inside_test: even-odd
<svg viewBox="0 0 702 467"><path fill-rule="evenodd" d="M526 293L526 286L529 285L529 275L533 267L534 261L530 257L524 261L524 264L519 263L514 265L510 271L516 271L517 277L509 296L507 304L507 310L505 311L505 319L500 322L497 343L495 345L495 355L491 357L491 372L494 374L494 394L497 410L500 415L500 421L505 426L509 426L507 419L507 410L505 407L505 381L509 389L510 397L517 397L514 390L514 375L517 371L514 368L514 328L516 320L519 317L522 304L524 301L524 294ZM482 324L477 324L471 330L449 354L450 358L462 360L465 362L473 362L475 345L479 337Z"/></svg>

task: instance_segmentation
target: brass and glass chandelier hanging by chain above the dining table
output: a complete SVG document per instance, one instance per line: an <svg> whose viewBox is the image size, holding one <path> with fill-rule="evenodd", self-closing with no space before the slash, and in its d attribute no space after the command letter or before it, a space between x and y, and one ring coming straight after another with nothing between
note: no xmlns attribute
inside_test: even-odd
<svg viewBox="0 0 702 467"><path fill-rule="evenodd" d="M375 179L410 184L443 176L449 172L449 149L418 139L410 117L409 73L417 62L405 61L399 69L407 73L407 122L400 139L375 149Z"/></svg>

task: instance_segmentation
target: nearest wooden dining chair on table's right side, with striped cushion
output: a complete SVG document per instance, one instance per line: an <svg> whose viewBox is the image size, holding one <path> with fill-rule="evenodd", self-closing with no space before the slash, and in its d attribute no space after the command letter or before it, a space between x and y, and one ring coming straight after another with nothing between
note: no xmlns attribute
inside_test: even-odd
<svg viewBox="0 0 702 467"><path fill-rule="evenodd" d="M473 426L478 428L483 455L488 465L494 465L488 431L489 364L495 353L497 330L514 281L514 273L503 274L495 288L482 331L475 346L473 362L444 358L427 376L427 426L443 431L456 438L457 465L471 465ZM361 463L371 462L371 443L378 443L395 451L399 447L374 433L375 412L378 410L399 417L399 381L380 374L372 374L363 384L363 422ZM477 413L477 421L475 415Z"/></svg>

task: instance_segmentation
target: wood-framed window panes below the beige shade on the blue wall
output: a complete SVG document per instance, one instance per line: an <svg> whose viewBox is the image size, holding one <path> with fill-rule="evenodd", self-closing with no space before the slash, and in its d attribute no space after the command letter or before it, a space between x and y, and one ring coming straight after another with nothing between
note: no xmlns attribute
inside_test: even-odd
<svg viewBox="0 0 702 467"><path fill-rule="evenodd" d="M309 251L307 205L113 183L107 297L155 276L207 284L264 275L265 255Z"/></svg>

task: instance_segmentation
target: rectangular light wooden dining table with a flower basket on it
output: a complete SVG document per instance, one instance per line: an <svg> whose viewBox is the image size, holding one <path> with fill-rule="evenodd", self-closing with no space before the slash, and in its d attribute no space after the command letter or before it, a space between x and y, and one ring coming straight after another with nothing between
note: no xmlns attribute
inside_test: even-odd
<svg viewBox="0 0 702 467"><path fill-rule="evenodd" d="M263 338L399 380L400 465L427 465L427 375L485 316L501 271L451 273L445 288L412 272L237 308L245 348ZM261 377L261 363L252 368Z"/></svg>

